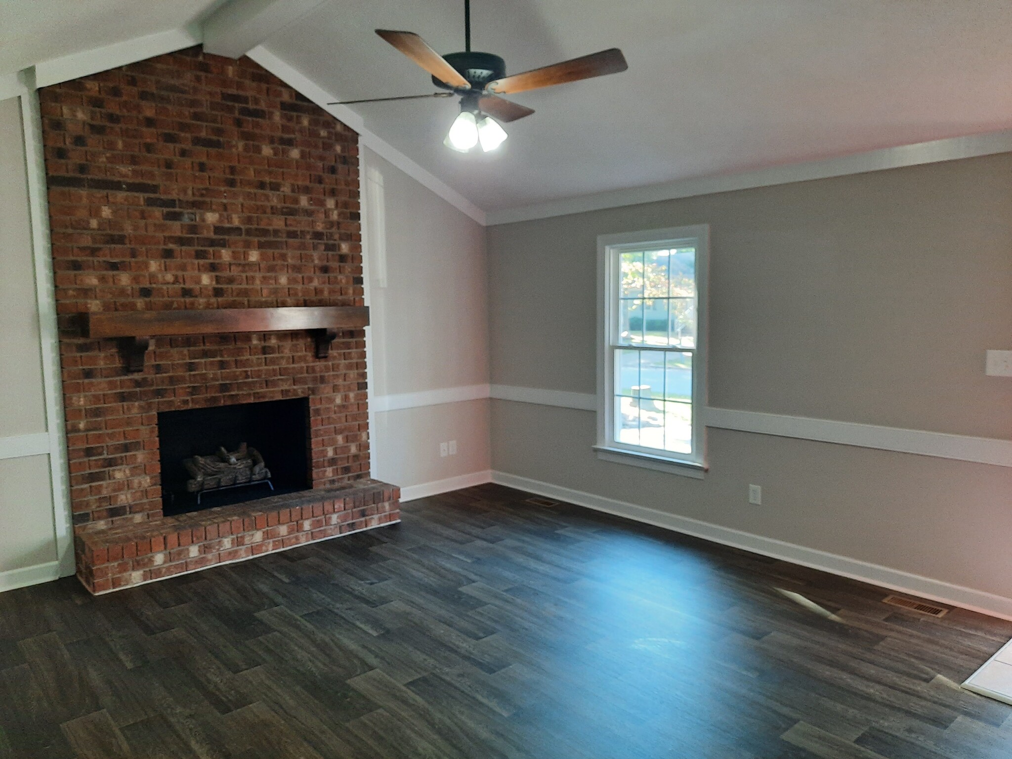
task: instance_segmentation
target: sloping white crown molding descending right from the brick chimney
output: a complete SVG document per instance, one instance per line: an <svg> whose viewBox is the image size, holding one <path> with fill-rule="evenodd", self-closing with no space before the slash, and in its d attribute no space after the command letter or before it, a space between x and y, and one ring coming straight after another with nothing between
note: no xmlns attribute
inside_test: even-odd
<svg viewBox="0 0 1012 759"><path fill-rule="evenodd" d="M246 55L278 79L285 82L289 86L294 87L303 95L308 97L324 110L328 111L331 115L340 119L357 132L359 135L359 144L364 145L384 160L394 164L394 166L399 168L419 184L428 187L450 205L463 212L479 224L485 225L484 210L479 208L471 202L471 200L466 198L434 174L423 169L417 163L401 153L401 151L397 150L397 148L394 148L392 145L366 129L365 121L360 115L355 113L355 111L351 110L351 108L346 105L327 104L334 100L340 100L339 97L325 90L313 81L312 78L281 60L263 46L254 48Z"/></svg>

